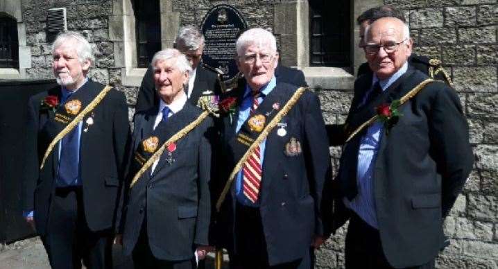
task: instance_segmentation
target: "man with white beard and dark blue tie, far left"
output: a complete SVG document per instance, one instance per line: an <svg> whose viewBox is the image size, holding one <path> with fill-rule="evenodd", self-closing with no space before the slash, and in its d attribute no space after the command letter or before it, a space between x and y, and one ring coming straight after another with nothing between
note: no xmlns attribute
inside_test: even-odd
<svg viewBox="0 0 498 269"><path fill-rule="evenodd" d="M52 268L112 268L111 243L130 136L124 94L87 78L92 47L74 32L52 46L60 86L28 103L24 217Z"/></svg>

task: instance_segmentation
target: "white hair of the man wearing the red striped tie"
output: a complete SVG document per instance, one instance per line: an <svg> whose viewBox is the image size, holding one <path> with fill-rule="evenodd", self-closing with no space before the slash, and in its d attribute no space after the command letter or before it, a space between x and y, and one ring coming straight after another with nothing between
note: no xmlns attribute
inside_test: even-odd
<svg viewBox="0 0 498 269"><path fill-rule="evenodd" d="M237 55L242 56L246 47L252 44L259 47L267 45L270 47L272 53L277 53L277 40L275 40L275 36L263 28L252 28L239 36L235 44Z"/></svg>

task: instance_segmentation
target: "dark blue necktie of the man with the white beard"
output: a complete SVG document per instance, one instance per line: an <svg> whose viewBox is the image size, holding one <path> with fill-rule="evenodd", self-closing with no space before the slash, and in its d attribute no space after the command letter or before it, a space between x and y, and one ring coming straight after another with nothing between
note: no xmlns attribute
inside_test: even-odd
<svg viewBox="0 0 498 269"><path fill-rule="evenodd" d="M71 94L65 98L61 105L66 103ZM78 159L80 154L80 149L78 148L78 129L79 123L60 142L59 184L62 186L74 185L78 178Z"/></svg>

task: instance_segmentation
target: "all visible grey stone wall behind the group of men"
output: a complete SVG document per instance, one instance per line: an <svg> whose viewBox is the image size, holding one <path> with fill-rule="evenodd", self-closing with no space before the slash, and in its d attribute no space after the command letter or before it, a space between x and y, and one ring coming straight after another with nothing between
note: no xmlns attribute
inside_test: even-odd
<svg viewBox="0 0 498 269"><path fill-rule="evenodd" d="M96 64L90 77L114 83L135 104L136 87L121 85L121 67L114 63L109 18L113 2L121 0L22 0L27 46L31 48L28 78L53 78L50 45L46 42L48 8L67 8L68 28L83 33L92 43ZM367 2L367 0L365 0ZM248 26L274 29L275 6L293 1L173 0L180 24L200 25L209 8L229 3L243 15ZM355 1L356 6L361 6ZM498 268L498 44L497 0L386 0L405 11L415 39L415 52L439 58L454 78L455 88L470 125L476 164L463 194L445 222L452 244L440 254L438 268ZM357 13L357 10L355 10ZM280 40L280 38L277 39ZM282 46L295 46L286 44ZM352 45L353 46L353 45ZM320 89L323 113L329 123L343 122L352 98L351 89ZM331 148L334 173L340 148ZM318 268L343 268L345 229L330 238L317 252Z"/></svg>

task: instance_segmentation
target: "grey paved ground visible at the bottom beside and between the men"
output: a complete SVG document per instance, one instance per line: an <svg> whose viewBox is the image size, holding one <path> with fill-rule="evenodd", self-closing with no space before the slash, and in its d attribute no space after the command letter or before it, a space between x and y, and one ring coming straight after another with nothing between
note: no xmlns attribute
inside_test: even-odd
<svg viewBox="0 0 498 269"><path fill-rule="evenodd" d="M114 269L133 269L132 261L121 254L121 247L112 250ZM206 269L214 268L214 256L209 255ZM225 261L227 257L225 255ZM29 238L9 245L0 244L0 269L50 269L40 238ZM227 263L223 269L228 268Z"/></svg>

